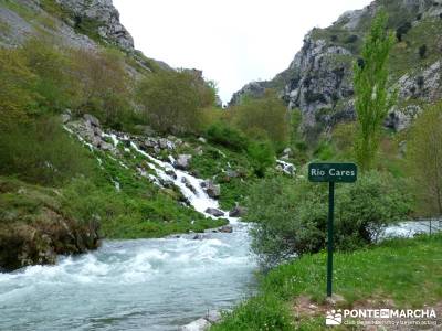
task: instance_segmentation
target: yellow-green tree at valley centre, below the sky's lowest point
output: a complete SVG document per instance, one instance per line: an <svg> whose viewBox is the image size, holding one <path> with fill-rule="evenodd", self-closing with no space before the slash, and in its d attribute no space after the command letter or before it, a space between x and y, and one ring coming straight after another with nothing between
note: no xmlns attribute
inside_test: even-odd
<svg viewBox="0 0 442 331"><path fill-rule="evenodd" d="M266 90L262 98L243 99L230 111L232 124L252 137L261 139L265 134L264 138L269 138L277 148L290 138L287 109L272 90Z"/></svg>

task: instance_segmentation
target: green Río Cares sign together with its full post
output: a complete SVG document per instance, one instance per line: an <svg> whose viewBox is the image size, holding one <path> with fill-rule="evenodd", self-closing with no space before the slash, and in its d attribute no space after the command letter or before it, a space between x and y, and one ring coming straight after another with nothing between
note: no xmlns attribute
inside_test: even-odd
<svg viewBox="0 0 442 331"><path fill-rule="evenodd" d="M334 214L335 183L354 183L357 180L358 168L355 163L311 163L308 180L311 182L328 182L328 222L327 222L327 297L333 292L333 247L334 247Z"/></svg>

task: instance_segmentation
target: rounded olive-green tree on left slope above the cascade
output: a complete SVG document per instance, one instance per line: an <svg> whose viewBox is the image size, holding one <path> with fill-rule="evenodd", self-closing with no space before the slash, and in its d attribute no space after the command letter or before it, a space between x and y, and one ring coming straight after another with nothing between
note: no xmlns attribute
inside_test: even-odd
<svg viewBox="0 0 442 331"><path fill-rule="evenodd" d="M151 125L185 134L201 127L202 108L214 103L213 88L196 71L162 71L140 82L137 96Z"/></svg>

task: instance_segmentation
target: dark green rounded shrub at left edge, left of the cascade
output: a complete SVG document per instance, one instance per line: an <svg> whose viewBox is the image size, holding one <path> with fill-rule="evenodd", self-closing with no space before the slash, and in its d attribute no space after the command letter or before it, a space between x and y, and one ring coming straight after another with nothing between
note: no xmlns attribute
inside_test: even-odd
<svg viewBox="0 0 442 331"><path fill-rule="evenodd" d="M61 184L87 174L92 160L52 117L14 124L0 131L0 173L32 183Z"/></svg>

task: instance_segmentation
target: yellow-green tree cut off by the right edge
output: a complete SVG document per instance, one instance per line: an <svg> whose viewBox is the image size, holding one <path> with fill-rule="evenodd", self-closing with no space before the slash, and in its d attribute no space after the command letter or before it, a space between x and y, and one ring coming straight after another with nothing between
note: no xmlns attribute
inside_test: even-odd
<svg viewBox="0 0 442 331"><path fill-rule="evenodd" d="M415 120L407 142L407 161L425 214L442 215L442 104Z"/></svg>

